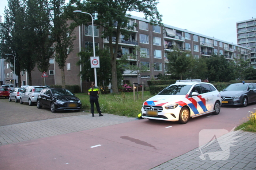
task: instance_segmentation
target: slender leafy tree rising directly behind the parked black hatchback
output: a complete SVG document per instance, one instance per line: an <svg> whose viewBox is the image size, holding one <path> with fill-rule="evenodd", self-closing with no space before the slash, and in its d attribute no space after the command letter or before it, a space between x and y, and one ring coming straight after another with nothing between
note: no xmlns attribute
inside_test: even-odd
<svg viewBox="0 0 256 170"><path fill-rule="evenodd" d="M73 51L73 41L75 36L74 25L68 20L65 14L65 0L50 0L51 11L53 13L53 38L55 41L55 61L61 70L61 84L66 87L65 82L65 62L68 55ZM69 23L69 24L68 24Z"/></svg>

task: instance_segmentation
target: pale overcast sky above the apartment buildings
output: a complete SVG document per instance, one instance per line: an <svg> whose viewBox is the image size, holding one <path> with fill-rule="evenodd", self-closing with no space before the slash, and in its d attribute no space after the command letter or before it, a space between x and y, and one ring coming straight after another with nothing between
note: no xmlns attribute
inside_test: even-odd
<svg viewBox="0 0 256 170"><path fill-rule="evenodd" d="M0 0L3 16L7 0ZM237 44L236 22L256 18L256 0L159 0L163 24ZM140 13L134 16L143 17ZM2 17L3 21L3 17Z"/></svg>

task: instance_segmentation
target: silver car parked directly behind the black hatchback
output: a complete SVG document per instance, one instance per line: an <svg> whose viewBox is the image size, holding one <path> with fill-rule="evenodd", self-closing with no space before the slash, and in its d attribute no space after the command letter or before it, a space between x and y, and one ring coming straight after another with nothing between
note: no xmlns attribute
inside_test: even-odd
<svg viewBox="0 0 256 170"><path fill-rule="evenodd" d="M37 102L37 96L43 88L46 86L29 86L26 87L24 93L20 95L20 104L23 102L29 103L29 106L33 106Z"/></svg>

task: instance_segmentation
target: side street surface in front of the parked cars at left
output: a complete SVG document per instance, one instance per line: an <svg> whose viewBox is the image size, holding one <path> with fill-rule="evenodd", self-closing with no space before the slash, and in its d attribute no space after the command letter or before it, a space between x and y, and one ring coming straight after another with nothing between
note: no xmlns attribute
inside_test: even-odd
<svg viewBox="0 0 256 170"><path fill-rule="evenodd" d="M14 100L9 102L8 99L0 98L0 126L87 114L91 113L84 111L52 113L49 108L38 109L35 105L29 106L28 103L20 104L15 103Z"/></svg>

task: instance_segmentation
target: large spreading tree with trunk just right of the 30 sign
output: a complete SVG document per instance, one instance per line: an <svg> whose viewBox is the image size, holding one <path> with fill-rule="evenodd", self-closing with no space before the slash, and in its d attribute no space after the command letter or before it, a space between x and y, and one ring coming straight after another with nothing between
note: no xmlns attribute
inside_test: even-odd
<svg viewBox="0 0 256 170"><path fill-rule="evenodd" d="M135 26L128 25L129 15L127 15L127 12L143 12L145 19L150 19L151 24L161 24L161 15L157 10L158 0L87 0L84 1L83 4L81 4L80 1L72 0L70 3L76 3L76 9L78 10L84 10L88 13L98 13L98 19L95 20L95 24L104 28L104 31L102 32L103 38L109 37L112 89L113 93L118 93L116 65L118 40L120 34L127 37L127 29L132 29ZM116 38L117 41L115 43L112 37Z"/></svg>

